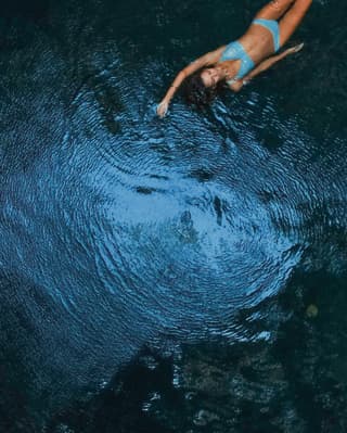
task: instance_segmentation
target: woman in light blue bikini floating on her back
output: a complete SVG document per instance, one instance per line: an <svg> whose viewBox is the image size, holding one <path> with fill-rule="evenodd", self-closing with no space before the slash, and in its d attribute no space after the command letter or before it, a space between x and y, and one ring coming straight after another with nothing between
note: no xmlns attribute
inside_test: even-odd
<svg viewBox="0 0 347 433"><path fill-rule="evenodd" d="M158 104L157 114L160 117L165 116L176 90L189 76L188 100L196 105L205 105L216 95L220 84L226 84L237 92L256 75L288 54L298 52L304 43L272 55L292 36L311 2L312 0L272 0L257 13L240 39L203 55L184 67Z"/></svg>

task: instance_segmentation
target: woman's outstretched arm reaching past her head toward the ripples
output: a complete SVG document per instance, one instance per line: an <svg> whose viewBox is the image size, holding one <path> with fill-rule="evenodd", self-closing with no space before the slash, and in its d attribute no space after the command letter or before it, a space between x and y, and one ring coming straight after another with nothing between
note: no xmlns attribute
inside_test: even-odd
<svg viewBox="0 0 347 433"><path fill-rule="evenodd" d="M221 53L223 52L224 47L220 47L215 51L211 51L198 59L194 62L185 66L182 71L180 71L175 80L172 81L171 86L169 87L168 91L166 92L164 99L158 104L156 112L158 116L164 117L176 90L181 86L183 80L189 77L190 75L194 74L196 71L204 66L209 66L218 62Z"/></svg>

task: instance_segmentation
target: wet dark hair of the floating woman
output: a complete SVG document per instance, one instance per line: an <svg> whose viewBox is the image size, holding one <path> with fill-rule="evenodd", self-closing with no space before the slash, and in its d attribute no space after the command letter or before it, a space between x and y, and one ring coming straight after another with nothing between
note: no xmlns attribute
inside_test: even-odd
<svg viewBox="0 0 347 433"><path fill-rule="evenodd" d="M188 77L184 81L183 92L185 101L197 109L208 106L224 87L223 81L219 81L217 86L214 87L206 87L201 76L204 69L205 67L196 71L196 73Z"/></svg>

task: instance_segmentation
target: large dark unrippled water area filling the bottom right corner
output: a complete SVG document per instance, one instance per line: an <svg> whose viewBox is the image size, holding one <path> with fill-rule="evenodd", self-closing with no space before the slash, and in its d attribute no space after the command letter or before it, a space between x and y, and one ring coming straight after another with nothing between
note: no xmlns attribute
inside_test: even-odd
<svg viewBox="0 0 347 433"><path fill-rule="evenodd" d="M344 278L297 272L278 304L266 303L267 316L249 323L277 328L269 341L183 345L166 358L143 351L88 403L56 415L47 432L345 432L344 308L333 317L347 302Z"/></svg>

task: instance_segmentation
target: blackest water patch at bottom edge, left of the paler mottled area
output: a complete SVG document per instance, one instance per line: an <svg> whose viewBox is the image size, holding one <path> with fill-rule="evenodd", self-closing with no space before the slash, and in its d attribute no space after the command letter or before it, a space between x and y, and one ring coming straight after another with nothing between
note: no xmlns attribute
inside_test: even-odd
<svg viewBox="0 0 347 433"><path fill-rule="evenodd" d="M179 392L172 386L172 360L144 349L87 404L72 405L56 415L46 431L61 432L67 426L76 433L127 432L172 433L143 411L143 404L154 392L165 395L179 408ZM68 430L67 430L68 431Z"/></svg>

